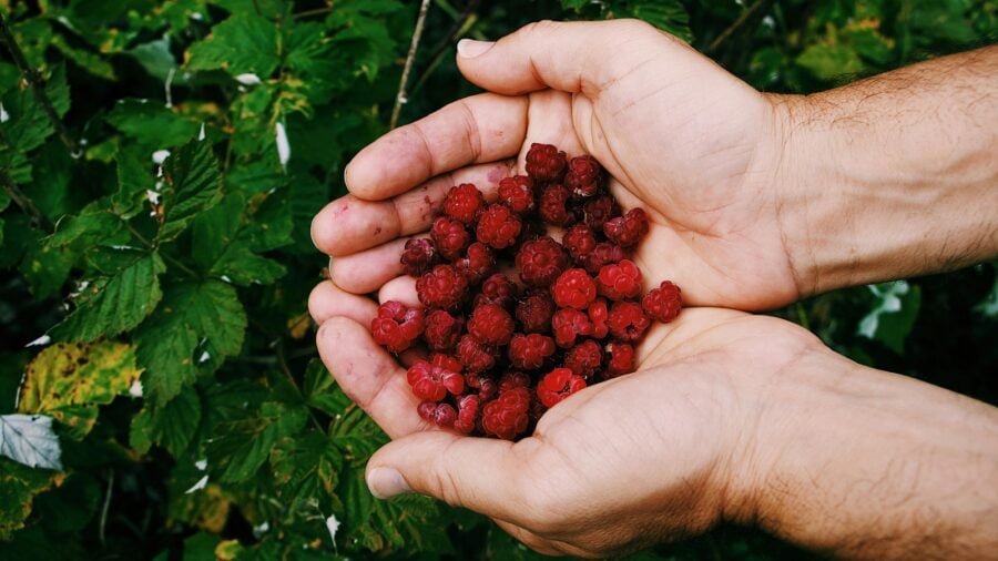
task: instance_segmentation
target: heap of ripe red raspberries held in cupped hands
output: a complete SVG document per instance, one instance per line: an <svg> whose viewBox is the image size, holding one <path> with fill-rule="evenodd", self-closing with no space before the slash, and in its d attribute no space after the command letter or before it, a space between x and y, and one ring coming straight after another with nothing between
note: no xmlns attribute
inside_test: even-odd
<svg viewBox="0 0 998 561"><path fill-rule="evenodd" d="M425 346L406 374L417 410L467 435L528 435L562 399L634 371L652 320L682 307L669 280L641 296L631 252L648 218L621 212L595 159L532 144L526 167L499 182L495 203L471 184L450 190L430 237L401 256L424 307L386 302L370 324L391 353Z"/></svg>

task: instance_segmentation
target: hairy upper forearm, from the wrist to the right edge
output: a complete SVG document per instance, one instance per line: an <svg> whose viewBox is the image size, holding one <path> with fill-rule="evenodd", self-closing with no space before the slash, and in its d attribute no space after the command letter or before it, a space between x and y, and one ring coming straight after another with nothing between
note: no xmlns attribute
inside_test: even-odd
<svg viewBox="0 0 998 561"><path fill-rule="evenodd" d="M998 255L998 47L774 96L781 222L804 295Z"/></svg>

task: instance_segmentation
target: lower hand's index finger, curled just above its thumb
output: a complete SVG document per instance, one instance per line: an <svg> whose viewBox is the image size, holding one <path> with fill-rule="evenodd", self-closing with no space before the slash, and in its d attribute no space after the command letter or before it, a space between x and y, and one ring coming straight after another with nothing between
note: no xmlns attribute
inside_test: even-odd
<svg viewBox="0 0 998 561"><path fill-rule="evenodd" d="M316 335L319 356L343 388L391 438L426 430L416 412L419 399L406 381L406 371L378 346L367 327L334 316Z"/></svg>

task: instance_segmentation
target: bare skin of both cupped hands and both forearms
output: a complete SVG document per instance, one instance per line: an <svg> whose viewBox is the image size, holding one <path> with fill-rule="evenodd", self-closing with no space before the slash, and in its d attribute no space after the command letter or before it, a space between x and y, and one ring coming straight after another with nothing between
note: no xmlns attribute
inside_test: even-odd
<svg viewBox="0 0 998 561"><path fill-rule="evenodd" d="M334 256L309 309L323 360L393 438L379 497L492 517L551 554L602 557L756 523L851 558L998 554L998 410L837 356L741 310L998 255L998 48L807 98L761 94L633 21L541 22L462 43L489 92L397 129L313 223ZM416 304L398 256L444 193L492 195L531 142L595 156L652 228L637 258L689 305L639 371L572 396L517 443L429 429L367 325ZM732 308L732 309L722 309Z"/></svg>

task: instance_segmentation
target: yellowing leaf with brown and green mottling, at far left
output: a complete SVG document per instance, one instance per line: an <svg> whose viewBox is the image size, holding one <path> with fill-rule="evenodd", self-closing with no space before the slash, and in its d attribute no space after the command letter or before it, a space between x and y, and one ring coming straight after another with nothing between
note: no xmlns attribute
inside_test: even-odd
<svg viewBox="0 0 998 561"><path fill-rule="evenodd" d="M50 415L79 440L96 421L96 407L128 392L139 374L131 345L59 343L28 365L18 410Z"/></svg>

